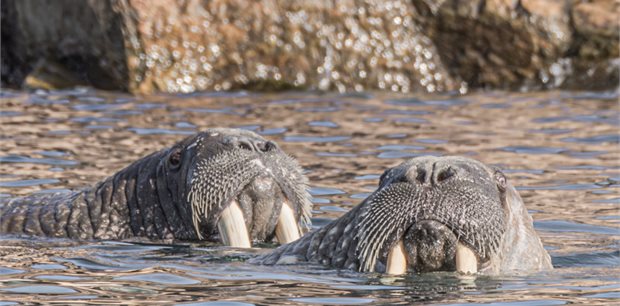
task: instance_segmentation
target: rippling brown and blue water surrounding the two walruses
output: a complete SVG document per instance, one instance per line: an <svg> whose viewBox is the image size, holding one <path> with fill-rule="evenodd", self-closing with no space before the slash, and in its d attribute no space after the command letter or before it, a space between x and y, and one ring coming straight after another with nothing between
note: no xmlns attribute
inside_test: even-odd
<svg viewBox="0 0 620 306"><path fill-rule="evenodd" d="M197 130L242 127L277 141L300 161L311 182L313 224L320 227L374 190L389 166L419 155L466 155L505 169L556 267L527 276L392 277L244 262L266 249L2 237L0 305L42 299L559 305L609 304L620 297L620 119L614 92L3 91L0 109L0 197L67 192Z"/></svg>

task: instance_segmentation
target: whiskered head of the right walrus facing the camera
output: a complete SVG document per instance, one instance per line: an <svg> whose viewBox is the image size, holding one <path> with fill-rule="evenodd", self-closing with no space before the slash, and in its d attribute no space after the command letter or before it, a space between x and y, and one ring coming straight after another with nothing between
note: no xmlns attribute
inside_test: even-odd
<svg viewBox="0 0 620 306"><path fill-rule="evenodd" d="M460 157L422 157L391 168L360 214L363 270L476 272L506 230L506 178Z"/></svg>

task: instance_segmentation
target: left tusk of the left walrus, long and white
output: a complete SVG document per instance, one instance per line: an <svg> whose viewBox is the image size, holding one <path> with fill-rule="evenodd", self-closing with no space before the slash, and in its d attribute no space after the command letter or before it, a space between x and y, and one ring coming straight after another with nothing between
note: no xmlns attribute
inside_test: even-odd
<svg viewBox="0 0 620 306"><path fill-rule="evenodd" d="M245 226L243 212L239 203L232 200L228 207L224 208L220 221L217 223L222 243L237 248L250 248L248 228Z"/></svg>

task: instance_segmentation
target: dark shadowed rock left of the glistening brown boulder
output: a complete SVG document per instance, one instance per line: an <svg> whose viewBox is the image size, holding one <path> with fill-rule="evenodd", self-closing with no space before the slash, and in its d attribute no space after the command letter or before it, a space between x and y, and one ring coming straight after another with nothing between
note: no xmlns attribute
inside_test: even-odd
<svg viewBox="0 0 620 306"><path fill-rule="evenodd" d="M21 86L31 74L37 84L51 87L78 82L126 90L121 19L111 4L94 0L3 0L3 83ZM76 80L63 80L67 78Z"/></svg>

